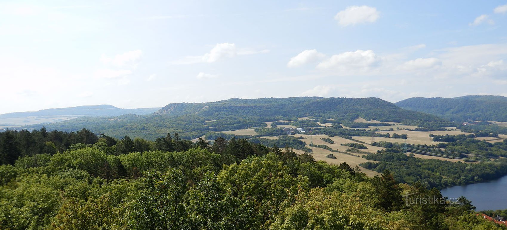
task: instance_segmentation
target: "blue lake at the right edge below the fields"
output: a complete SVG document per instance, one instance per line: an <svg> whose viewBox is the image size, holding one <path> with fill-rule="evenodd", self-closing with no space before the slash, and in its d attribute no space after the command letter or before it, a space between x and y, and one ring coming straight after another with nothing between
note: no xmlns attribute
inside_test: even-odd
<svg viewBox="0 0 507 230"><path fill-rule="evenodd" d="M441 192L448 198L465 196L477 207L477 211L507 209L507 176L477 184L444 188Z"/></svg>

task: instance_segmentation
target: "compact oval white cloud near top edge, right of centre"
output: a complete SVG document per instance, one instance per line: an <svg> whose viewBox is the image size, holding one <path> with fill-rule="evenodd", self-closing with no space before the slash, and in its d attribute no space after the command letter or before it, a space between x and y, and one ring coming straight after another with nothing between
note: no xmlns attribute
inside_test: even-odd
<svg viewBox="0 0 507 230"><path fill-rule="evenodd" d="M374 7L350 6L336 14L335 19L342 26L355 25L359 23L375 22L380 13Z"/></svg>

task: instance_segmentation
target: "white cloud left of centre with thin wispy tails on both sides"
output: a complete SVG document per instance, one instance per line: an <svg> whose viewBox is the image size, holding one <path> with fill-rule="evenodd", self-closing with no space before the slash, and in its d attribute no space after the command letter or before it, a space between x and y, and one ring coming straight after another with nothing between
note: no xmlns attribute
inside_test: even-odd
<svg viewBox="0 0 507 230"><path fill-rule="evenodd" d="M251 48L238 49L234 43L216 44L208 53L202 56L186 56L182 60L174 61L172 64L195 64L195 63L212 63L221 59L233 58L241 55L251 55L258 53L268 53L269 50L255 50Z"/></svg>

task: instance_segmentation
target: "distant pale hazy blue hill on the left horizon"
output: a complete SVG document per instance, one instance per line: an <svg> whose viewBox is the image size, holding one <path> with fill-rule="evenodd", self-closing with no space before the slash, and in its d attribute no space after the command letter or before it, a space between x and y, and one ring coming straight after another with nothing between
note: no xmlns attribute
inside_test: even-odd
<svg viewBox="0 0 507 230"><path fill-rule="evenodd" d="M33 112L0 114L0 118L18 118L30 116L119 116L123 114L151 114L159 108L121 109L112 105L77 106L68 108L45 109Z"/></svg>

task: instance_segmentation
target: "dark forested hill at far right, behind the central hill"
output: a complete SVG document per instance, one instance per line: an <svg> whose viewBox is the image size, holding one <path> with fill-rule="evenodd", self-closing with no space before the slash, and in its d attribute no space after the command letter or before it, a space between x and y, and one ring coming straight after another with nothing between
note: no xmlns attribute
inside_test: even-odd
<svg viewBox="0 0 507 230"><path fill-rule="evenodd" d="M454 121L507 121L507 97L504 96L412 97L395 105Z"/></svg>

